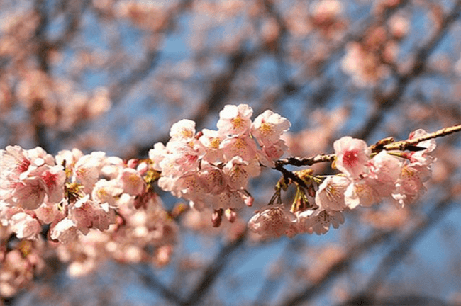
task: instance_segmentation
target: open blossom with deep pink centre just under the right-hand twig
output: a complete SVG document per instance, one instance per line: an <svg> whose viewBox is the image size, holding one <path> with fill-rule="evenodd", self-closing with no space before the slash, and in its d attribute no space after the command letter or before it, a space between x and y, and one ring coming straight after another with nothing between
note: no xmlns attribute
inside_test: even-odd
<svg viewBox="0 0 461 306"><path fill-rule="evenodd" d="M336 168L356 179L367 172L367 162L370 159L370 149L363 140L345 136L333 143L336 154Z"/></svg>

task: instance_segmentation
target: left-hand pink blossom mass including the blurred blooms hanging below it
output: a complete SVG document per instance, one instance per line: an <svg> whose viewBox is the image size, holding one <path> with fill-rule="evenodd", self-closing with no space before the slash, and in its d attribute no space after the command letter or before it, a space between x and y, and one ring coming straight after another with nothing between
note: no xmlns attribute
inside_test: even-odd
<svg viewBox="0 0 461 306"><path fill-rule="evenodd" d="M103 259L170 260L177 225L152 190L158 174L149 160L78 149L52 157L40 147L8 146L0 161L1 296L16 294L40 272L45 236L72 276ZM11 249L11 237L20 239L19 249Z"/></svg>

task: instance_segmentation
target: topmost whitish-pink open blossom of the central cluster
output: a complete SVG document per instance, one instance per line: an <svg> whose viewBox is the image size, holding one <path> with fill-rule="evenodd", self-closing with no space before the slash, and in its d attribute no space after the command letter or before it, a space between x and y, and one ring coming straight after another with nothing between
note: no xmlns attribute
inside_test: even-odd
<svg viewBox="0 0 461 306"><path fill-rule="evenodd" d="M226 105L219 112L219 120L216 125L223 135L245 135L250 131L252 114L253 109L247 104Z"/></svg>

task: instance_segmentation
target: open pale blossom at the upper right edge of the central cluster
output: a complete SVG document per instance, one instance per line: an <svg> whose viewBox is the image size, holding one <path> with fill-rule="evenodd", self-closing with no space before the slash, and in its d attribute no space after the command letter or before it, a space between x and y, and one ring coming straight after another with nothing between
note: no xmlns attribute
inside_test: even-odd
<svg viewBox="0 0 461 306"><path fill-rule="evenodd" d="M260 145L272 145L280 136L289 130L291 124L287 118L267 110L255 118L251 133Z"/></svg>

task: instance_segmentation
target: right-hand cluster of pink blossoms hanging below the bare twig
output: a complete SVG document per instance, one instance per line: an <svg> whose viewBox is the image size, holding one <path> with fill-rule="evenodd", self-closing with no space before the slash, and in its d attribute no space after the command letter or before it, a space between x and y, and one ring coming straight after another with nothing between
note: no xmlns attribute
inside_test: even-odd
<svg viewBox="0 0 461 306"><path fill-rule="evenodd" d="M424 135L424 130L416 130L409 140ZM412 152L372 153L363 140L352 137L336 140L334 148L335 168L340 174L316 177L298 171L308 188L298 186L291 210L283 205L268 205L250 219L250 229L264 237L324 234L331 225L338 228L344 222L345 210L370 207L384 198L402 208L426 191L423 183L434 162L429 155L435 149L433 139L419 142Z"/></svg>

